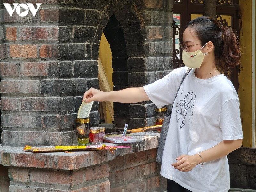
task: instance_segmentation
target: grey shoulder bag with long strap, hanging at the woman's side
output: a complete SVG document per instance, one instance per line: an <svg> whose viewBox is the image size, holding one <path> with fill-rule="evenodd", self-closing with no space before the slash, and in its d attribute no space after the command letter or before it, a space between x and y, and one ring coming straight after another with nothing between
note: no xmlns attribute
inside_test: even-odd
<svg viewBox="0 0 256 192"><path fill-rule="evenodd" d="M188 73L191 71L192 69L189 68L187 70L187 72L185 73L185 75L183 76L181 82L180 82L180 86L181 84L183 83L185 77L188 75ZM180 89L180 86L176 92L176 95L175 95L175 98L174 100L176 99L177 95L178 95L178 92L179 92L179 89ZM173 100L173 102L174 102ZM173 107L173 105L172 105ZM171 119L171 115L172 115L172 108L170 110L170 112L168 112L167 114L165 114L164 116L164 121L163 121L163 124L162 124L162 127L161 127L161 133L160 133L160 138L158 140L158 149L157 149L157 155L156 155L156 162L158 163L162 163L162 156L163 156L163 151L164 151L164 144L165 144L165 140L166 140L166 136L167 136L167 132L168 132L168 129L169 129L169 124L170 124L170 119Z"/></svg>

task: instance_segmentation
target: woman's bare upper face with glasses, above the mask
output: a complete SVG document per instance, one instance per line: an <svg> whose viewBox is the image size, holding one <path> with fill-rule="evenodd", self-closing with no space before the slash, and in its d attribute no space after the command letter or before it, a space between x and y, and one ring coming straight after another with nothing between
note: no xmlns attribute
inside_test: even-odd
<svg viewBox="0 0 256 192"><path fill-rule="evenodd" d="M188 45L188 52L197 51L202 48L200 40L196 37L195 32L192 28L186 28L183 33L183 44ZM192 45L192 46L191 46Z"/></svg>

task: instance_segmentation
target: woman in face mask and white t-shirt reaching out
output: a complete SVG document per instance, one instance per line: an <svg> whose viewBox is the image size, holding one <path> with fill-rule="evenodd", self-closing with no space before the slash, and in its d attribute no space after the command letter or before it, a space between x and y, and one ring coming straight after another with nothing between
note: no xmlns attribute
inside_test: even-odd
<svg viewBox="0 0 256 192"><path fill-rule="evenodd" d="M89 89L83 100L135 103L151 100L158 108L172 104L161 175L168 192L227 192L230 188L227 154L239 148L243 133L239 99L221 74L239 64L240 49L233 31L209 17L188 23L181 44L186 67L140 88L101 92ZM180 81L188 68L175 98Z"/></svg>

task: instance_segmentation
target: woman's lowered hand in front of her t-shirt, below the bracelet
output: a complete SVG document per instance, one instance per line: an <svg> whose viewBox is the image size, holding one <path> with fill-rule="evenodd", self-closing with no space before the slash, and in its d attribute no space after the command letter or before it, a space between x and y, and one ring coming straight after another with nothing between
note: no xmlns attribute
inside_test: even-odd
<svg viewBox="0 0 256 192"><path fill-rule="evenodd" d="M174 167L174 169L178 169L179 171L188 172L194 169L196 165L200 163L199 159L200 156L195 155L181 155L176 158L178 160L176 163L172 163L171 165Z"/></svg>

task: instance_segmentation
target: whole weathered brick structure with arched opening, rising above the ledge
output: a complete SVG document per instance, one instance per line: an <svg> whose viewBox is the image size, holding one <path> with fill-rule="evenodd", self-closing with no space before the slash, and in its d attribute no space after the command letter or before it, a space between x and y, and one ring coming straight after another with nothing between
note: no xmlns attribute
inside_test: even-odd
<svg viewBox="0 0 256 192"><path fill-rule="evenodd" d="M100 37L113 14L126 42L125 86L149 84L169 73L172 66L172 12L163 4L153 0L47 2L35 17L10 17L4 10L2 145L75 143L74 120L84 91L98 88ZM134 23L126 22L126 17ZM6 33L7 29L13 33ZM153 125L154 107L151 102L130 104L125 111L129 128ZM97 110L95 102L92 125L99 123Z"/></svg>

